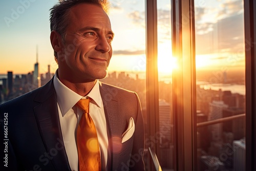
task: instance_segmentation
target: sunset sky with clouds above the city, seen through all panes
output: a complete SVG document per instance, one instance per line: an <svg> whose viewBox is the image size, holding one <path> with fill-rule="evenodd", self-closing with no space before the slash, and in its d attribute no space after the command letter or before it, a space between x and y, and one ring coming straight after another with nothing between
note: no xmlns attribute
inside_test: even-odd
<svg viewBox="0 0 256 171"><path fill-rule="evenodd" d="M23 3L26 2L26 3ZM29 3L28 3L29 2ZM49 9L57 0L0 2L0 74L33 71L38 45L40 73L55 72ZM109 71L145 71L145 2L111 0L115 38ZM202 3L203 2L203 3ZM195 1L197 67L244 65L242 1ZM158 1L159 70L170 70L172 41L169 1ZM230 41L232 40L232 41Z"/></svg>

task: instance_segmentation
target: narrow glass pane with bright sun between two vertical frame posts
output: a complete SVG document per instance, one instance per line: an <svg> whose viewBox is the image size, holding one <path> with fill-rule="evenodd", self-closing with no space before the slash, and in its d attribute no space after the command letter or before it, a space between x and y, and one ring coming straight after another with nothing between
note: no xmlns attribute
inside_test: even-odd
<svg viewBox="0 0 256 171"><path fill-rule="evenodd" d="M172 114L172 26L170 1L157 1L158 80L159 80L159 147L158 160L163 170L174 169L174 133Z"/></svg>

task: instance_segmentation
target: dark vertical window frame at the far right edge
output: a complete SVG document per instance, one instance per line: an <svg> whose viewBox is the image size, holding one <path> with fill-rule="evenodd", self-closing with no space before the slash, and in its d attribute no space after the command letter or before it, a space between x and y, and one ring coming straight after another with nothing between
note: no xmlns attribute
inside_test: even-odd
<svg viewBox="0 0 256 171"><path fill-rule="evenodd" d="M245 123L246 123L246 170L256 169L256 3L244 0L244 23L245 23Z"/></svg>

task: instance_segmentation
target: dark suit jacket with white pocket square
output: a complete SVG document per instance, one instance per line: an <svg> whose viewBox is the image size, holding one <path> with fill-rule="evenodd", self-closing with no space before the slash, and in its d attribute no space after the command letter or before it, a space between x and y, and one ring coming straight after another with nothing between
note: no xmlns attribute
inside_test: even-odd
<svg viewBox="0 0 256 171"><path fill-rule="evenodd" d="M107 170L144 170L144 127L134 92L100 82L109 138ZM1 170L71 170L63 145L53 79L45 86L0 105ZM130 118L133 136L121 143ZM6 119L7 118L7 119ZM8 123L8 125L5 125ZM9 139L9 140L5 140ZM6 144L8 143L8 146ZM7 149L7 153L3 153ZM8 167L5 155L8 155Z"/></svg>

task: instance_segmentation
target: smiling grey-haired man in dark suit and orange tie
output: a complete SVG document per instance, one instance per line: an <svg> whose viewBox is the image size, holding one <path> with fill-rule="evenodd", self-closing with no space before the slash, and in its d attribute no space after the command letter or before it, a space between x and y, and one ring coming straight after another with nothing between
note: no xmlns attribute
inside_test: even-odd
<svg viewBox="0 0 256 171"><path fill-rule="evenodd" d="M0 106L4 170L144 170L137 94L98 81L106 76L112 56L107 5L66 0L51 9L50 39L58 70L45 86ZM80 163L80 155L89 156L78 153L77 130L86 115L77 105L80 99L90 99L93 144L99 144L96 169L87 167L89 159L85 167Z"/></svg>

